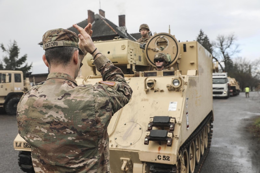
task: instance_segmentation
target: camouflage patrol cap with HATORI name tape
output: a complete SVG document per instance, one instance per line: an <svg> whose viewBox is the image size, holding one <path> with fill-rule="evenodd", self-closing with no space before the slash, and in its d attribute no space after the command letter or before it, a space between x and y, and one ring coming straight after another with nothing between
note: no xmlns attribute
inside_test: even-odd
<svg viewBox="0 0 260 173"><path fill-rule="evenodd" d="M79 49L79 54L84 55L78 42L79 37L75 32L62 28L49 30L42 36L43 50L54 47L70 46L77 47Z"/></svg>

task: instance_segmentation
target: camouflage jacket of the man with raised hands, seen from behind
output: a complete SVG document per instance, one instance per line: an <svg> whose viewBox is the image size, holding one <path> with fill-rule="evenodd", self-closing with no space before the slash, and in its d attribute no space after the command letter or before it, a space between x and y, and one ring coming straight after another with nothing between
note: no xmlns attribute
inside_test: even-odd
<svg viewBox="0 0 260 173"><path fill-rule="evenodd" d="M114 86L77 85L68 74L50 73L18 103L18 131L32 148L36 173L110 172L107 126L132 89L104 55L94 64Z"/></svg>

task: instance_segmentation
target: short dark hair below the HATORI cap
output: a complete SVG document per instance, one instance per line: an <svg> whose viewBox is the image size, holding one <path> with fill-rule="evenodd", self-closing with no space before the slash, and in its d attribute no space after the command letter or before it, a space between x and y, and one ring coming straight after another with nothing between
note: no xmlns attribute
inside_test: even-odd
<svg viewBox="0 0 260 173"><path fill-rule="evenodd" d="M64 47L54 47L47 49L45 51L45 57L48 64L67 66L76 50L76 47L64 46Z"/></svg>

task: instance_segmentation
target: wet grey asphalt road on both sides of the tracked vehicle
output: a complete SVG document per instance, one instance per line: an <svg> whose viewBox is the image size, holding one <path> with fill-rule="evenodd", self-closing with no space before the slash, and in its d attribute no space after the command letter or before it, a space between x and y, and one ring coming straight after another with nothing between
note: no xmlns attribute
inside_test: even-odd
<svg viewBox="0 0 260 173"><path fill-rule="evenodd" d="M260 94L250 92L229 99L214 99L211 149L201 173L260 173L260 142L246 127L260 116ZM22 173L13 149L17 135L16 116L0 113L0 173Z"/></svg>

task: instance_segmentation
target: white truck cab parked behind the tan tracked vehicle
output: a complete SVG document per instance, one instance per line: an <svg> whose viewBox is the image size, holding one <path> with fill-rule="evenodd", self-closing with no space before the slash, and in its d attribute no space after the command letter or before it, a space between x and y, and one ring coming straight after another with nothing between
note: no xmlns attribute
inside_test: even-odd
<svg viewBox="0 0 260 173"><path fill-rule="evenodd" d="M229 98L228 73L212 73L213 97Z"/></svg>

